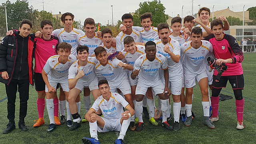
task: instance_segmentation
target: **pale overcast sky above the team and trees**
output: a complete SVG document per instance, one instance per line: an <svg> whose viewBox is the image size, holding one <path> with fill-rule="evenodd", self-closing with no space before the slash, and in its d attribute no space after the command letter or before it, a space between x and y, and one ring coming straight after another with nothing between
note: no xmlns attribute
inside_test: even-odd
<svg viewBox="0 0 256 144"><path fill-rule="evenodd" d="M16 0L10 0L15 2ZM44 1L44 8L43 8ZM100 22L102 25L112 24L112 8L113 5L113 19L114 24L117 20L121 20L121 17L125 13L135 12L139 8L140 2L151 0L28 0L29 5L32 5L34 9L46 10L52 12L52 14L62 14L65 12L71 12L74 14L74 20L81 20L81 23L88 17L94 18L95 22ZM1 0L4 2L4 0ZM179 2L179 3L177 3ZM166 8L165 14L169 16L180 16L192 14L192 0L161 0L161 3ZM228 6L230 10L242 11L243 6L245 10L252 6L256 6L255 0L193 0L193 13L196 13L199 7L206 6L211 9L214 5L214 11L225 9ZM200 6L198 6L200 5ZM182 6L183 13L182 13Z"/></svg>

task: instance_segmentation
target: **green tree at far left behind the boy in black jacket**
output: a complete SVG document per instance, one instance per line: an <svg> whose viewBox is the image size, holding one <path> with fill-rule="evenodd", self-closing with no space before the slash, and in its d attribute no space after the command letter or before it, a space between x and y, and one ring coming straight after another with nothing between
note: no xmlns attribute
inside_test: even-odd
<svg viewBox="0 0 256 144"><path fill-rule="evenodd" d="M6 6L9 30L18 29L20 21L33 11L33 7L29 7L27 0L17 0L14 3L7 0L5 3L2 3L2 6Z"/></svg>

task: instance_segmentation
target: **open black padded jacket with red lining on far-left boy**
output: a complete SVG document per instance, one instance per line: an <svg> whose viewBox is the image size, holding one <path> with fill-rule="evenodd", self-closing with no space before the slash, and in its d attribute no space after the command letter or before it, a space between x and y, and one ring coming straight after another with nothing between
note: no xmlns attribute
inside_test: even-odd
<svg viewBox="0 0 256 144"><path fill-rule="evenodd" d="M17 59L18 43L17 33L12 36L6 36L2 43L0 44L0 82L9 85ZM33 58L32 53L34 49L34 37L31 35L28 38L28 72L29 72L29 82L34 85L34 69L33 69ZM8 73L8 80L2 78L2 72L6 71Z"/></svg>

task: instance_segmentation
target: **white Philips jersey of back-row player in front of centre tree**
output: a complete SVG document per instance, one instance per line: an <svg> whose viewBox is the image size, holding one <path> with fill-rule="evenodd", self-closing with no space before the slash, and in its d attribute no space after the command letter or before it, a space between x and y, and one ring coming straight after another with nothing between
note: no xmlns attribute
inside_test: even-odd
<svg viewBox="0 0 256 144"><path fill-rule="evenodd" d="M132 26L132 29L137 30L141 34L142 42L146 43L148 41L159 40L159 36L157 34L157 28L151 26L151 29L146 31L143 27Z"/></svg>

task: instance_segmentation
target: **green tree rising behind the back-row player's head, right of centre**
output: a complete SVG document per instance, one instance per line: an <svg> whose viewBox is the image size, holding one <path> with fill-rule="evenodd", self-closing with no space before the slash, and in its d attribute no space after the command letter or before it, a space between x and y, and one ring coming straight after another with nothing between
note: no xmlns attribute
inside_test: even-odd
<svg viewBox="0 0 256 144"><path fill-rule="evenodd" d="M166 22L168 20L168 15L164 14L165 7L159 0L153 0L152 2L143 2L139 4L140 8L135 11L133 15L134 26L140 25L140 15L151 12L152 13L152 26L157 26L161 22Z"/></svg>

